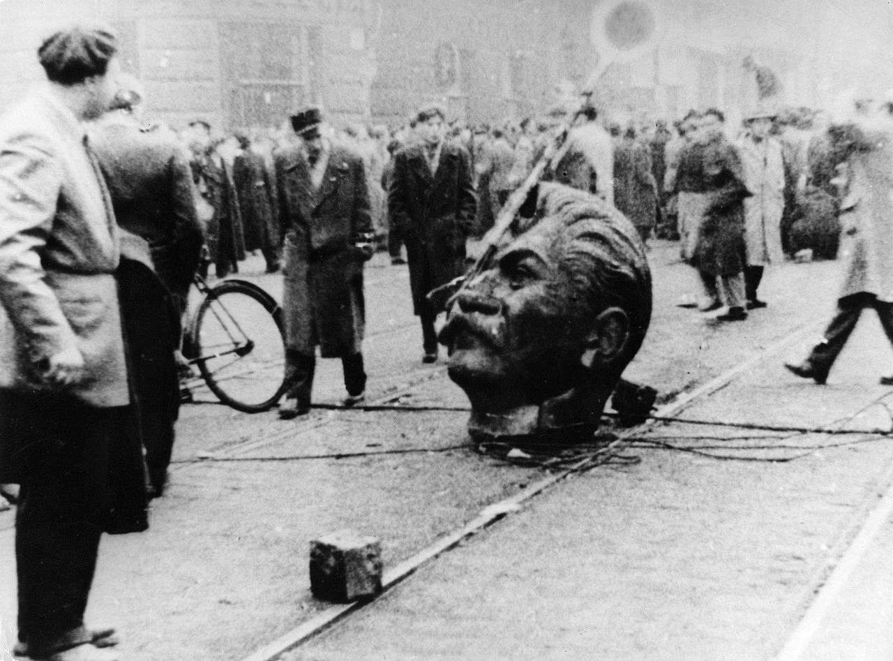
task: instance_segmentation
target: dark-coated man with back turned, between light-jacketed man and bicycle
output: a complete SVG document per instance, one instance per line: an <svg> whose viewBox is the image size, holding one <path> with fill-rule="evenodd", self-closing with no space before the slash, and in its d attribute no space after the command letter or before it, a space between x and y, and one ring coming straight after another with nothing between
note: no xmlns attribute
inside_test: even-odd
<svg viewBox="0 0 893 661"><path fill-rule="evenodd" d="M192 176L173 133L140 124L136 81L121 83L113 110L90 144L121 227L119 296L132 356L133 387L154 496L167 481L179 415L179 316L198 268L204 236Z"/></svg>

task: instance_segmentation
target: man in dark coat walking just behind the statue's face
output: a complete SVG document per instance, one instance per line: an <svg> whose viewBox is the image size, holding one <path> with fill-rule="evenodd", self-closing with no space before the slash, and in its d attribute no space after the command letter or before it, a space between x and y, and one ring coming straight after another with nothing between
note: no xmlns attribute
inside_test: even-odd
<svg viewBox="0 0 893 661"><path fill-rule="evenodd" d="M444 140L443 109L421 108L416 121L421 144L397 152L388 205L405 241L413 311L421 318L422 361L433 363L438 311L425 295L465 272L465 239L474 228L477 202L471 157L464 147Z"/></svg>

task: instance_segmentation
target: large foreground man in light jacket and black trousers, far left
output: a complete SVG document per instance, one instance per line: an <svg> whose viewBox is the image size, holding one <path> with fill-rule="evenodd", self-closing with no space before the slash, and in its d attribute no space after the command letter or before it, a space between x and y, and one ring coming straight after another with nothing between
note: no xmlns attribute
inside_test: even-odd
<svg viewBox="0 0 893 661"><path fill-rule="evenodd" d="M119 230L80 123L112 99L116 50L56 32L46 88L0 121L0 481L21 484L16 652L36 660L118 658L83 621L99 538L147 526Z"/></svg>

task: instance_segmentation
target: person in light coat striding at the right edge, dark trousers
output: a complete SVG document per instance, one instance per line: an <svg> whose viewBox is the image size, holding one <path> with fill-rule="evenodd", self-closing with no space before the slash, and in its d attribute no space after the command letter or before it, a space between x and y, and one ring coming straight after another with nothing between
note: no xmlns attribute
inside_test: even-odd
<svg viewBox="0 0 893 661"><path fill-rule="evenodd" d="M893 105L877 116L835 131L846 143L849 181L840 204L840 255L846 263L838 309L824 338L800 364L797 376L824 383L859 316L873 307L893 343ZM893 377L881 378L893 385Z"/></svg>

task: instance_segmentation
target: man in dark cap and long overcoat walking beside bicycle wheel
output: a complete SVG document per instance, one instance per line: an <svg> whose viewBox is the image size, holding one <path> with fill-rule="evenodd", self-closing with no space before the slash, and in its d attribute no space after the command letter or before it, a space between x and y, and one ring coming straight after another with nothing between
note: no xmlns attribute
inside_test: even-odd
<svg viewBox="0 0 893 661"><path fill-rule="evenodd" d="M274 155L285 235L286 377L280 417L310 411L316 347L340 358L345 406L363 402L363 263L372 255L363 158L328 137L321 110L291 118L299 142Z"/></svg>

